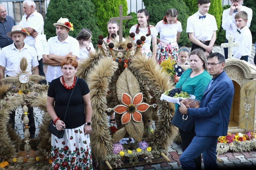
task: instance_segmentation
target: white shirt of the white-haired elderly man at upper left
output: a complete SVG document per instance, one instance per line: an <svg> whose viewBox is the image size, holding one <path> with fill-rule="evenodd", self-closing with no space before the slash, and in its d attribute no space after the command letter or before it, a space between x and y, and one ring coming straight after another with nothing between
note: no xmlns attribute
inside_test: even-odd
<svg viewBox="0 0 256 170"><path fill-rule="evenodd" d="M36 32L38 32L38 35L41 35L42 29L44 27L44 19L42 15L35 10L35 12L33 12L28 17L28 19L26 19L26 17L27 15L24 14L19 25L21 25L23 28L26 28L26 27L33 28ZM24 39L24 43L35 48L35 38L30 35Z"/></svg>

